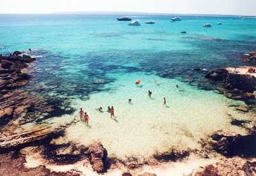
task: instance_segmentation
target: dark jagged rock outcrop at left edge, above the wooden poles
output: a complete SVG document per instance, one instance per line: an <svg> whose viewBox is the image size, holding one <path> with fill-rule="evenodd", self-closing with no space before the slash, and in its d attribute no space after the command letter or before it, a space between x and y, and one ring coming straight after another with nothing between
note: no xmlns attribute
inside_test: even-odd
<svg viewBox="0 0 256 176"><path fill-rule="evenodd" d="M29 62L35 61L29 55L22 56L3 56L0 57L0 124L6 124L13 118L13 115L20 114L24 111L31 111L33 104L28 102L20 102L26 98L20 97L22 94L17 91L22 85L25 85L29 80L29 75L22 73L21 70L28 67ZM14 101L8 99L15 95ZM19 96L20 95L20 96ZM4 103L4 101L12 103ZM16 106L13 106L16 105ZM22 106L21 106L22 105Z"/></svg>

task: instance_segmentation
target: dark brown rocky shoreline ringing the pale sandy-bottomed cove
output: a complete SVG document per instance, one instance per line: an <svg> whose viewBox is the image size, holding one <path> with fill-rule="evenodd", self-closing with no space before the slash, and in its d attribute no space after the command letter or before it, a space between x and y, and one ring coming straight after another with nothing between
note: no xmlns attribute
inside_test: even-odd
<svg viewBox="0 0 256 176"><path fill-rule="evenodd" d="M26 122L36 122L36 119L42 113L48 113L49 118L51 114L56 115L54 114L56 111L64 111L64 114L72 114L74 110L68 112L58 110L58 105L53 105L55 103L63 103L60 99L56 101L56 99L50 96L35 97L31 94L35 89L44 90L44 88L23 89L24 85L29 82L30 75L23 73L22 70L28 68L29 64L35 62L36 59L31 58L29 55L22 55L19 52L14 53L17 54L10 56L0 55L0 132L4 135L13 134L13 130L17 126ZM250 52L252 62L254 61L253 58L255 58L255 55L256 52ZM248 62L248 59L246 61ZM248 70L248 68L243 69ZM237 106L237 110L241 111L241 113L251 113L253 116L256 116L254 112L254 109L256 110L256 78L253 74L242 74L241 72L240 74L234 74L230 72L230 68L221 68L207 73L205 78L222 82L223 87L220 87L220 92L228 98L243 100L248 105L246 107ZM14 122L17 119L19 119L19 122ZM76 123L76 121L74 122ZM199 154L202 158L207 158L208 155L213 154L219 157L220 161L195 168L191 172L191 175L256 175L256 153L254 152L256 150L256 121L233 120L232 123L246 129L248 135L242 136L229 131L216 131L212 136L209 136L208 141L201 142L204 151L176 151L173 149L165 154L156 154L152 163L145 162L143 165L154 166L161 165L161 163L182 161L186 160L193 153ZM141 170L140 168L143 165L136 165L136 162L133 163L132 159L130 163L123 163L122 161L118 161L118 159L108 158L108 151L104 149L104 146L100 142L93 142L90 147L77 147L70 143L52 145L51 141L63 137L63 133L64 129L60 128L58 131L45 136L45 138L40 138L40 140L1 148L0 175L17 175L17 173L19 175L84 175L76 169L56 172L45 167L48 163L72 165L83 162L83 165L92 167L92 170L99 174L107 173L108 170L117 169L123 170L123 176L156 176L152 172L133 172L132 170ZM24 151L25 149L29 149L30 152L40 153L40 156L47 163L34 168L24 166L26 156L28 155ZM58 155L58 150L67 150L68 152L65 155ZM10 167L10 165L13 166Z"/></svg>

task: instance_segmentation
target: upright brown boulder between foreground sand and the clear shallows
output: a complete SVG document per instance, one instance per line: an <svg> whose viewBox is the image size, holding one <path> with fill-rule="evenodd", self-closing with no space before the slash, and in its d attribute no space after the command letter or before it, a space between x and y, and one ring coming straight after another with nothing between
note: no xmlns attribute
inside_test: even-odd
<svg viewBox="0 0 256 176"><path fill-rule="evenodd" d="M102 173L106 167L108 152L104 149L101 142L93 142L88 149L90 155L90 163L97 173Z"/></svg>

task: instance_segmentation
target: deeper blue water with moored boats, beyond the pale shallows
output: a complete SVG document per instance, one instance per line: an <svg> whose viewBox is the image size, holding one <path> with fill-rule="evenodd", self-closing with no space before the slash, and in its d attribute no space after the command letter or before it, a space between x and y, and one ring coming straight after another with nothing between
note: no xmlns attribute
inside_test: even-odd
<svg viewBox="0 0 256 176"><path fill-rule="evenodd" d="M31 48L31 55L43 56L38 58L38 67L49 68L43 74L35 73L37 79L52 78L63 85L85 84L98 78L108 83L115 80L106 77L109 71L134 72L141 68L168 78L186 78L196 74L191 73L196 67L214 70L246 65L241 62L243 53L256 46L254 18L180 16L181 22L172 23L171 16L145 15L132 17L141 20L141 26L128 26L117 17L1 14L0 52L8 55ZM156 24L145 24L147 20ZM205 23L213 27L202 27ZM84 89L97 91L101 86Z"/></svg>

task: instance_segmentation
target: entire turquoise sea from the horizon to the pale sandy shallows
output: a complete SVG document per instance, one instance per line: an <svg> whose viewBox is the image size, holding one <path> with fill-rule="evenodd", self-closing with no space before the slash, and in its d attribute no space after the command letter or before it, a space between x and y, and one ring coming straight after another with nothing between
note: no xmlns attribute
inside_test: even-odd
<svg viewBox="0 0 256 176"><path fill-rule="evenodd" d="M194 68L249 66L243 54L255 51L255 18L180 15L182 21L170 22L172 15L138 15L131 18L141 26L129 26L116 20L121 16L0 15L0 52L36 57L23 88L44 87L36 93L69 99L70 107L60 108L76 110L42 115L22 128L67 126L65 142L89 146L100 140L109 156L138 161L170 149L200 150L200 140L218 129L245 133L230 124L231 117L252 118L232 106L244 102L219 94L219 85L205 80L207 71ZM95 110L100 106L103 112ZM115 118L108 106L114 106ZM88 126L79 121L80 108L90 117ZM79 122L70 124L74 119Z"/></svg>

